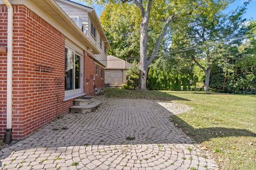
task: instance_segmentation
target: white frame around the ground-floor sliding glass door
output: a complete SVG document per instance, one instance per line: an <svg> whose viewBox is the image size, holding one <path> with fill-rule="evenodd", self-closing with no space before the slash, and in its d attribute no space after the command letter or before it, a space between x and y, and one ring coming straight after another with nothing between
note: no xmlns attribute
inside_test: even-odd
<svg viewBox="0 0 256 170"><path fill-rule="evenodd" d="M78 55L80 57L80 88L79 89L75 89L75 85L74 85L74 89L73 90L65 90L65 98L64 100L69 100L69 99L73 99L73 98L76 98L76 97L79 97L79 96L83 96L84 95L84 89L83 89L83 83L84 83L84 74L83 74L83 71L84 71L84 68L83 68L83 61L84 61L84 58L83 58L83 54L77 52L77 50L75 50L75 48L71 48L69 46L65 46L65 48L71 50L74 52L74 63L75 63L75 55ZM73 73L75 74L75 72ZM73 76L73 79L74 79L74 82L75 82L75 76Z"/></svg>

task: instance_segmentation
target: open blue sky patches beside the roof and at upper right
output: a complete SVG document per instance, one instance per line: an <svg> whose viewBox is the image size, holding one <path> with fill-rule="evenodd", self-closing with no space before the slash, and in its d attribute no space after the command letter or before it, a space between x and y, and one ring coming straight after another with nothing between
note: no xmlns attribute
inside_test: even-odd
<svg viewBox="0 0 256 170"><path fill-rule="evenodd" d="M71 0L71 1L86 5L84 2L81 2L81 1L78 1L78 0ZM228 6L228 8L223 12L224 13L229 13L231 10L235 10L238 6L242 6L243 2L244 2L244 0L235 0L235 2L230 4ZM96 11L98 17L100 16L101 12L104 10L103 7L100 7L96 4L90 5L90 6L95 8L95 11ZM247 20L250 20L250 19L256 20L256 0L252 0L252 2L247 6L247 10L246 10L246 13L244 14L244 18L246 18Z"/></svg>

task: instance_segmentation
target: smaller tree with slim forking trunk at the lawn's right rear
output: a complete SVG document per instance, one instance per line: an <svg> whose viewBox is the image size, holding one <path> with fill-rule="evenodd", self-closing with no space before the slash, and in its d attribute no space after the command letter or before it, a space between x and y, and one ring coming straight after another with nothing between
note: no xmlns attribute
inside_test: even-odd
<svg viewBox="0 0 256 170"><path fill-rule="evenodd" d="M224 42L222 45L218 45L218 43L242 36L245 33L241 27L245 21L242 18L245 6L230 14L222 14L221 11L227 4L220 6L218 11L214 11L215 13L212 13L211 19L209 19L208 14L201 13L186 20L183 29L172 35L174 45L172 45L172 50L177 49L177 44L178 48L195 47L186 51L186 53L183 52L182 55L190 57L204 71L205 91L209 91L210 72L213 63L226 60L227 57L232 55L230 48L228 48L230 46L229 42ZM180 25L176 27L179 28ZM239 41L241 40L235 43L239 43ZM204 61L204 64L199 61Z"/></svg>

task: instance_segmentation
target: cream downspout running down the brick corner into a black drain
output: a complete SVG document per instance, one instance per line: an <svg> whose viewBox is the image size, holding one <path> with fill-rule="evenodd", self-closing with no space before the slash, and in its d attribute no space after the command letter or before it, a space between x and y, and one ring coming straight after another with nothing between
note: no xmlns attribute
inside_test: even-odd
<svg viewBox="0 0 256 170"><path fill-rule="evenodd" d="M4 142L12 141L12 46L13 46L13 8L8 0L2 0L8 8L7 20L7 106L6 106L6 132Z"/></svg>

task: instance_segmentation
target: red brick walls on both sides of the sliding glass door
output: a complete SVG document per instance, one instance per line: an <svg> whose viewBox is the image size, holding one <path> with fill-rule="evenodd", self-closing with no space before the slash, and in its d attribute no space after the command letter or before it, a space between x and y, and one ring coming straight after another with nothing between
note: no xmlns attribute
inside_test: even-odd
<svg viewBox="0 0 256 170"><path fill-rule="evenodd" d="M23 5L13 5L13 139L22 139L58 115L65 97L65 36ZM0 45L7 43L7 7L0 5ZM0 138L6 130L6 54L0 53ZM52 72L39 72L38 66ZM84 52L84 92L94 95L94 60Z"/></svg>

